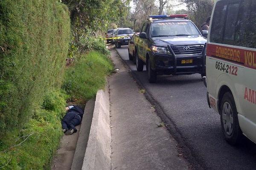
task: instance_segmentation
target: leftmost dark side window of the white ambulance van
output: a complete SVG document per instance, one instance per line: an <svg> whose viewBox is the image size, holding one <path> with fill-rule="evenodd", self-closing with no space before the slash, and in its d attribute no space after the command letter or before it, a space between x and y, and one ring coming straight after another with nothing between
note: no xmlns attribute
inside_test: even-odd
<svg viewBox="0 0 256 170"><path fill-rule="evenodd" d="M213 20L210 41L215 43L222 43L223 26L225 23L225 15L227 11L227 0L221 0L216 3Z"/></svg>

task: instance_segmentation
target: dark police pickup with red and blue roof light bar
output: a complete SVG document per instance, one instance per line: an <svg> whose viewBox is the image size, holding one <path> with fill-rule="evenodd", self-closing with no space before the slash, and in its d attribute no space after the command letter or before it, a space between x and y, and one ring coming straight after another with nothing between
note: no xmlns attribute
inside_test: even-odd
<svg viewBox="0 0 256 170"><path fill-rule="evenodd" d="M134 35L137 71L146 64L148 80L157 75L205 75L207 39L186 14L151 15Z"/></svg>

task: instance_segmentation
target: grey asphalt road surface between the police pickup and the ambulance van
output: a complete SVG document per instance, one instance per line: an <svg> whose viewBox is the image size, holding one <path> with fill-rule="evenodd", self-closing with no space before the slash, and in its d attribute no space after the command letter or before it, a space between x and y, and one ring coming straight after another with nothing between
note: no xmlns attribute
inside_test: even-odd
<svg viewBox="0 0 256 170"><path fill-rule="evenodd" d="M181 152L194 169L205 170L255 170L256 144L244 138L233 147L225 142L221 133L220 116L210 109L206 88L200 74L158 76L150 84L147 73L137 72L136 65L128 59L128 47L116 49L132 75L162 108L162 121L172 124L170 133L185 145ZM175 130L174 130L175 129ZM199 164L199 165L198 165Z"/></svg>

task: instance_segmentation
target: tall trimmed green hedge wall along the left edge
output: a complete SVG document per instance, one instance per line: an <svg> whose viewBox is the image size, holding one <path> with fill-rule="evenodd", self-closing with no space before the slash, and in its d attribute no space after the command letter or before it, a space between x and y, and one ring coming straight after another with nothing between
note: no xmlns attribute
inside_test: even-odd
<svg viewBox="0 0 256 170"><path fill-rule="evenodd" d="M0 0L0 139L61 85L70 17L59 0Z"/></svg>

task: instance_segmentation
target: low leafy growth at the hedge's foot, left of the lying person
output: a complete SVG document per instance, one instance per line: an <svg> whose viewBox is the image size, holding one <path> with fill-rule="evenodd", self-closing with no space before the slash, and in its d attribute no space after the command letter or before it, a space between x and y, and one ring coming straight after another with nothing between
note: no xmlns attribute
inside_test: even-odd
<svg viewBox="0 0 256 170"><path fill-rule="evenodd" d="M60 119L65 113L67 95L52 91L44 108L33 111L22 130L7 132L0 142L0 167L3 170L45 170L62 136Z"/></svg>

